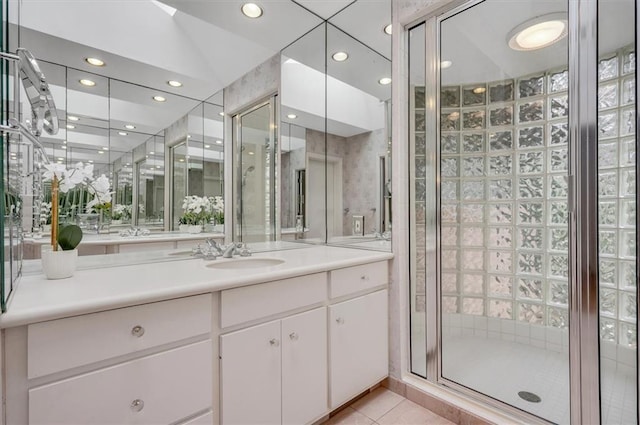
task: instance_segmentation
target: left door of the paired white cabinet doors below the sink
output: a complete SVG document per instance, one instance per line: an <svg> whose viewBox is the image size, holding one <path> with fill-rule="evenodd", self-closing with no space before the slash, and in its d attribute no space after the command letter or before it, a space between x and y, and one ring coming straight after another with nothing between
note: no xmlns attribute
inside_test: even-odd
<svg viewBox="0 0 640 425"><path fill-rule="evenodd" d="M222 425L279 424L280 321L220 337Z"/></svg>

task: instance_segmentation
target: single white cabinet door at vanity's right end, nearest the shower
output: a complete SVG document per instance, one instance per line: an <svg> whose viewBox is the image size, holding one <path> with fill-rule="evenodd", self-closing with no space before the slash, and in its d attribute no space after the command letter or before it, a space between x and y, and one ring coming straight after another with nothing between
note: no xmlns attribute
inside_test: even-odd
<svg viewBox="0 0 640 425"><path fill-rule="evenodd" d="M387 290L329 307L331 408L388 375Z"/></svg>

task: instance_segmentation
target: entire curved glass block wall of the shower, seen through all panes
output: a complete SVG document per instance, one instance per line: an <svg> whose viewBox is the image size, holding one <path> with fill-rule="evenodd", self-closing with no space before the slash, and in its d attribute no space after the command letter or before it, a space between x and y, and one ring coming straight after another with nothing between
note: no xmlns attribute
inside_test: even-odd
<svg viewBox="0 0 640 425"><path fill-rule="evenodd" d="M634 64L628 51L602 60L599 87L601 333L626 346L636 345ZM424 87L412 93L420 312ZM442 312L566 328L567 71L443 87L440 106Z"/></svg>

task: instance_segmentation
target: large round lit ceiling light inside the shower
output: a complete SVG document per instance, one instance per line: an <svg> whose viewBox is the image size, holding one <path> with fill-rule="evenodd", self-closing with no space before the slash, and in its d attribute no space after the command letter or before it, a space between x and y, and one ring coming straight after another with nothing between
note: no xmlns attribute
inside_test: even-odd
<svg viewBox="0 0 640 425"><path fill-rule="evenodd" d="M567 26L564 13L538 16L512 29L507 35L507 43L513 50L542 49L566 37Z"/></svg>

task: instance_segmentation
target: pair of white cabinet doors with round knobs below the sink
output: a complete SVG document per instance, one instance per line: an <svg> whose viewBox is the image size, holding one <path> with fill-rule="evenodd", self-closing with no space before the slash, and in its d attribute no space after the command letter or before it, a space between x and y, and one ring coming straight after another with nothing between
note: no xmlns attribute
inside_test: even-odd
<svg viewBox="0 0 640 425"><path fill-rule="evenodd" d="M327 410L326 307L220 338L222 423L305 424Z"/></svg>

